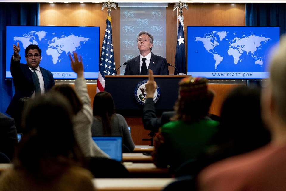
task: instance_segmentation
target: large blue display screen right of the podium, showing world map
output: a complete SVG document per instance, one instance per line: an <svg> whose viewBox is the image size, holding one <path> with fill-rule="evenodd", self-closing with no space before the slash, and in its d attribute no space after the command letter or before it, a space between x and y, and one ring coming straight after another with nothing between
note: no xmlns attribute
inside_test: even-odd
<svg viewBox="0 0 286 191"><path fill-rule="evenodd" d="M213 79L268 78L279 27L187 26L187 74Z"/></svg>

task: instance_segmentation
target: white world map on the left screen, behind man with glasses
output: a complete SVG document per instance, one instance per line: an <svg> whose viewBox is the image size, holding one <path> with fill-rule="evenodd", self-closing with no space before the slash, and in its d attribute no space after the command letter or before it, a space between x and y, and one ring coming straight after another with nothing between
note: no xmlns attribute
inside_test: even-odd
<svg viewBox="0 0 286 191"><path fill-rule="evenodd" d="M29 31L22 36L14 36L14 41L20 41L23 49L29 46L29 44L41 44L39 47L42 50L42 59L44 59L45 56L52 56L52 63L59 64L61 61L59 57L62 54L65 54L65 56L69 53L72 54L73 51L77 51L86 41L90 40L90 38L76 36L72 33L52 32L52 34L49 35L47 35L47 33L47 31L43 30ZM41 43L42 41L44 42Z"/></svg>

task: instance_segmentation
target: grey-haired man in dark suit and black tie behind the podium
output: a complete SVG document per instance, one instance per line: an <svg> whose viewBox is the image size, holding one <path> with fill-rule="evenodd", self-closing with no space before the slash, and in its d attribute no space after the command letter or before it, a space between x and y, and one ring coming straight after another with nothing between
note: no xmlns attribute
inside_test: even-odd
<svg viewBox="0 0 286 191"><path fill-rule="evenodd" d="M165 58L151 53L153 36L147 31L141 31L137 36L140 55L127 61L124 75L148 75L148 69L154 75L169 75Z"/></svg>

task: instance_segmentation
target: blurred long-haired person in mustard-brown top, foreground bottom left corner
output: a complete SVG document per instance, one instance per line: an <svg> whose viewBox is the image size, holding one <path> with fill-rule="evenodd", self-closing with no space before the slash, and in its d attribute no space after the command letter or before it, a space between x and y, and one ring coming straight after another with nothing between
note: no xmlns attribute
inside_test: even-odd
<svg viewBox="0 0 286 191"><path fill-rule="evenodd" d="M24 109L23 136L15 167L0 176L0 191L94 190L91 173L72 130L71 105L59 93L31 100Z"/></svg>

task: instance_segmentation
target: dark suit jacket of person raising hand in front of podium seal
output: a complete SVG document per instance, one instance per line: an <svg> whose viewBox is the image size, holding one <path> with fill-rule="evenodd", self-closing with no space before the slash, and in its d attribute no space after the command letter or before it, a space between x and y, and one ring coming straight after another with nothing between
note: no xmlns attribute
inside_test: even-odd
<svg viewBox="0 0 286 191"><path fill-rule="evenodd" d="M175 111L163 112L160 118L157 118L152 98L147 98L143 107L143 124L144 128L158 132L159 127L170 122L170 118L176 114Z"/></svg>

